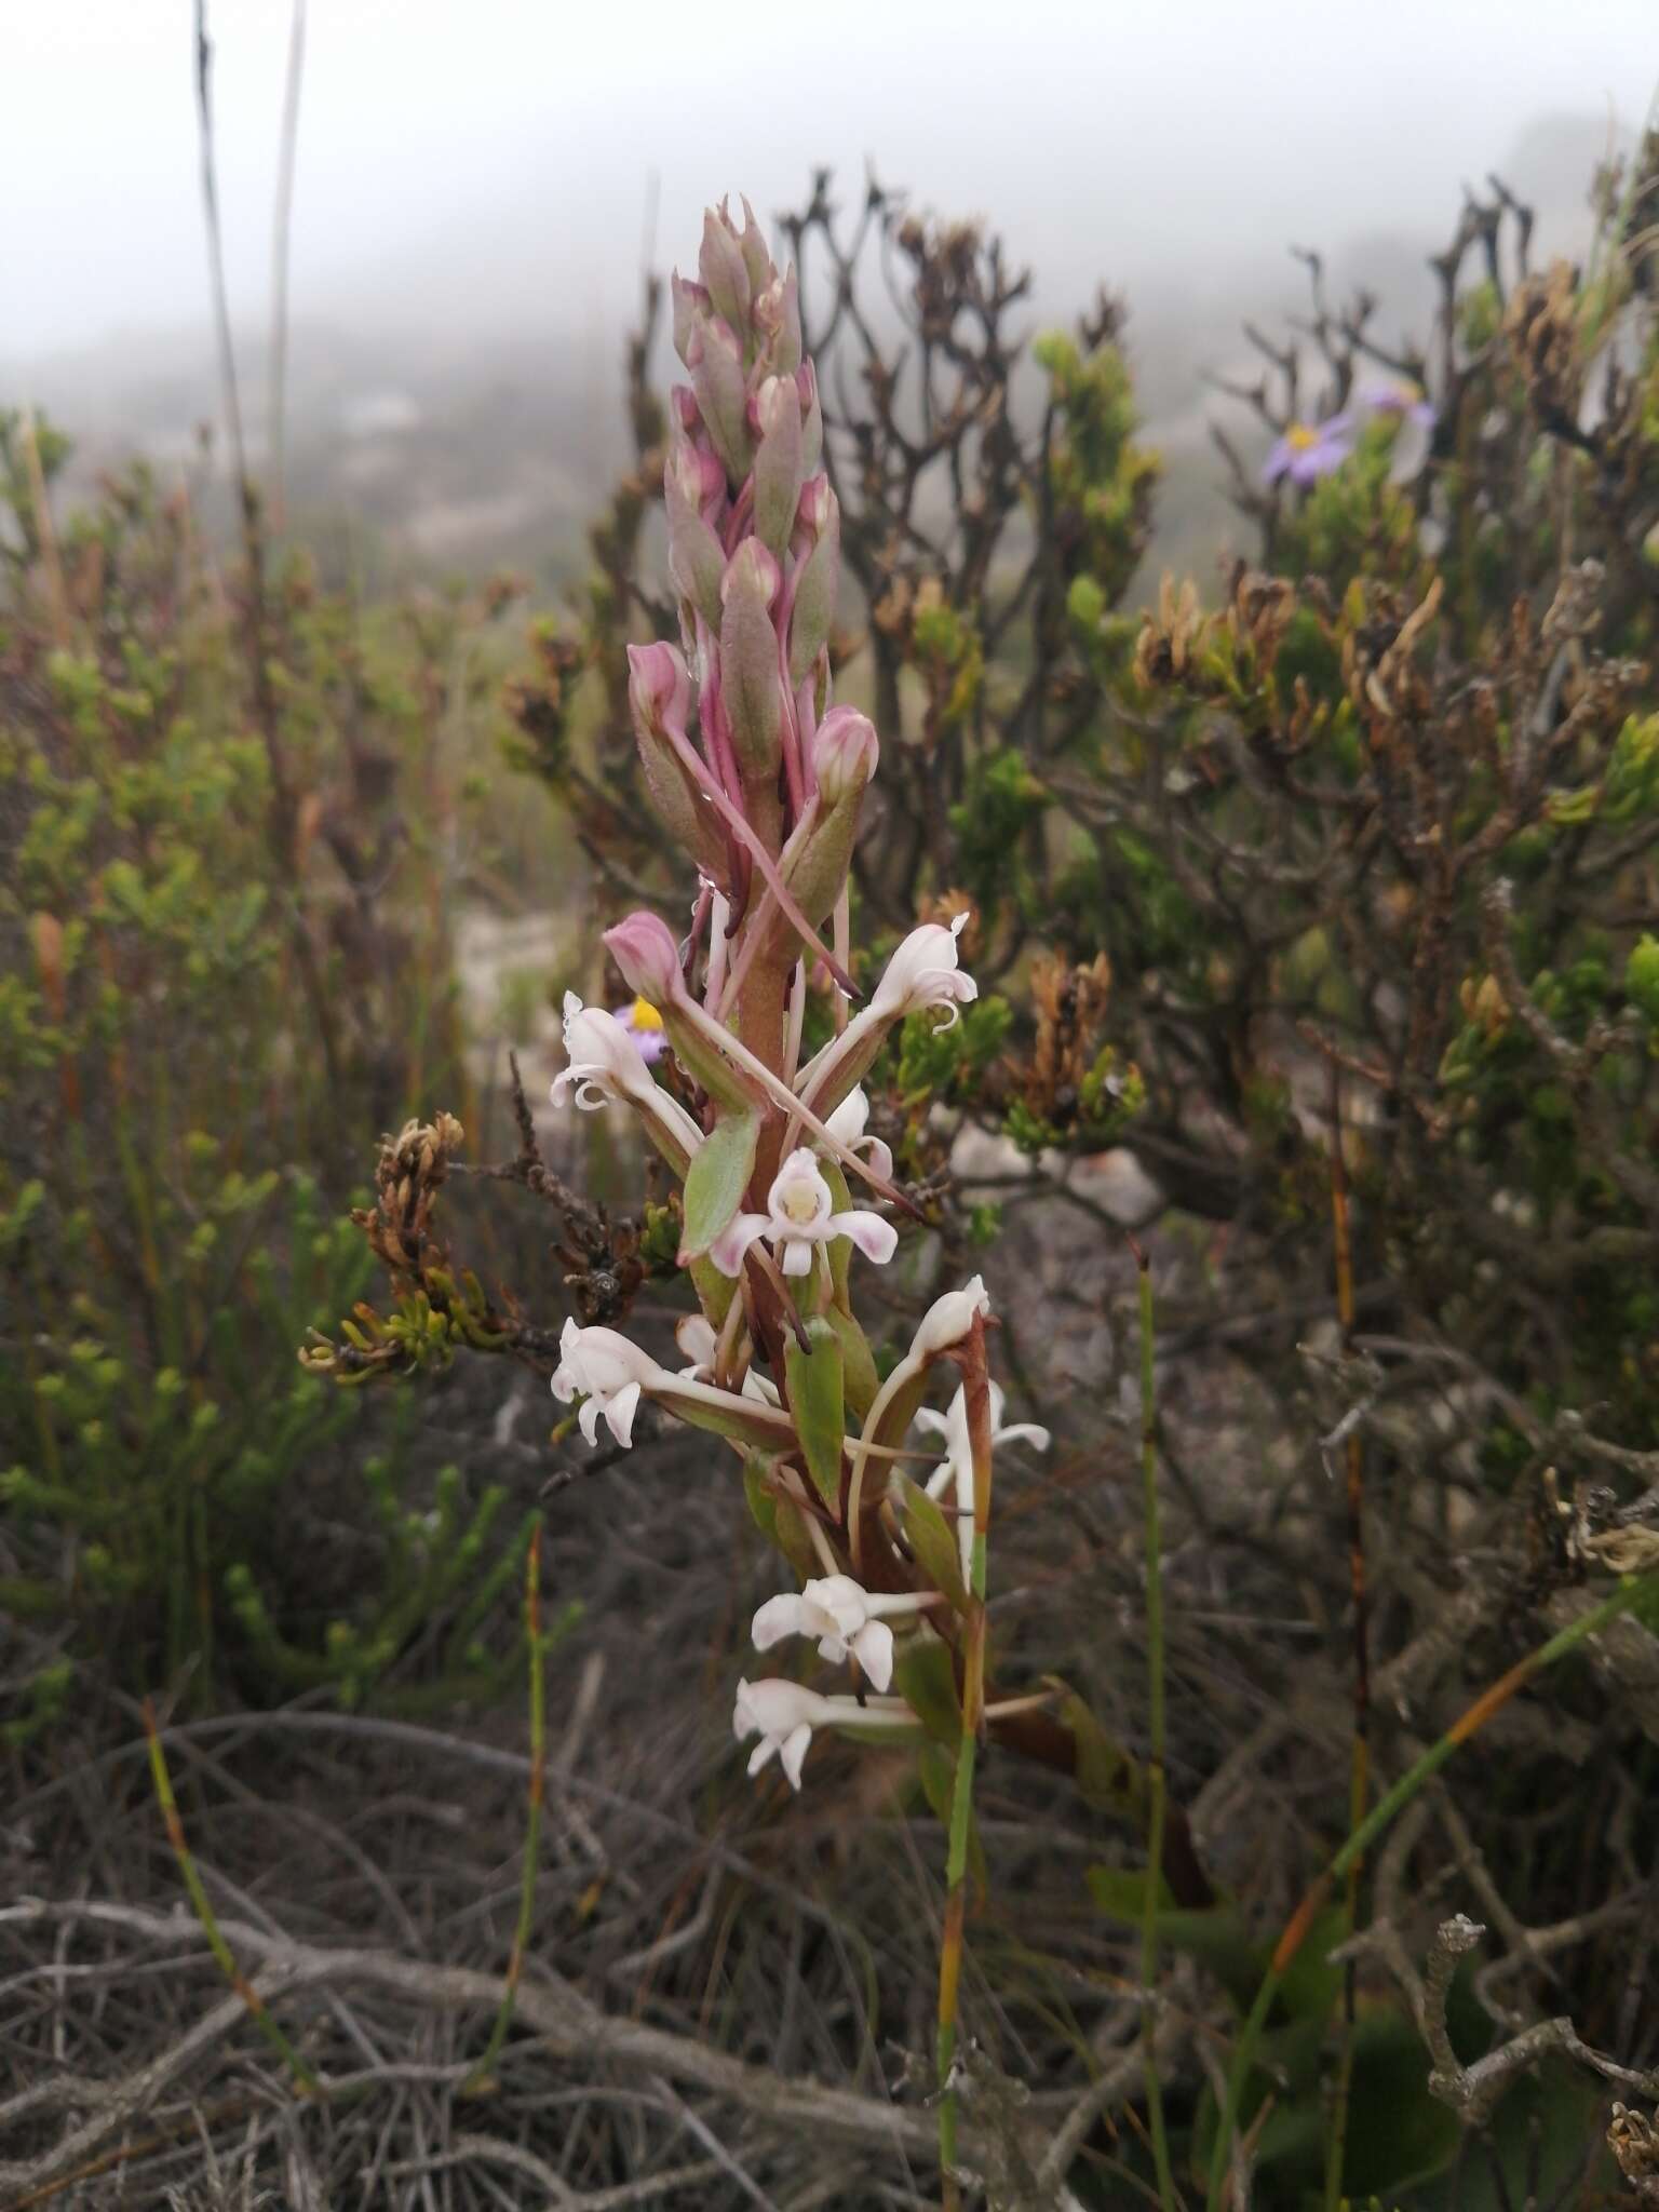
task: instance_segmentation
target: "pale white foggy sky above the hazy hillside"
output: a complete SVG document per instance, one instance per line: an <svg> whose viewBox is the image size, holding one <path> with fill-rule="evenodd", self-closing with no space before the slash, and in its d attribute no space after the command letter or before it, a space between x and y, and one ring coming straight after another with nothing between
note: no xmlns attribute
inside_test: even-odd
<svg viewBox="0 0 1659 2212"><path fill-rule="evenodd" d="M217 0L221 197L261 327L290 0ZM296 319L611 330L657 254L834 164L991 212L1062 288L1440 234L1540 113L1635 126L1659 0L310 0ZM204 327L188 0L0 0L0 361Z"/></svg>

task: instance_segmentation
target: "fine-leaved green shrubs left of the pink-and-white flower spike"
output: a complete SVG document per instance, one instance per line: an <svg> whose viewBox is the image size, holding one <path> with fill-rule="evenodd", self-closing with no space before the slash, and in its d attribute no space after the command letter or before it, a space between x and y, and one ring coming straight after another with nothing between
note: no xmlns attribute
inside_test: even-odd
<svg viewBox="0 0 1659 2212"><path fill-rule="evenodd" d="M526 1528L447 1478L422 1533L407 1425L294 1345L367 1287L363 1121L465 1095L431 787L480 619L223 573L144 469L51 542L27 436L0 418L4 1725L86 1666L361 1697L440 1624L422 1666L476 1683ZM46 480L64 451L35 434Z"/></svg>

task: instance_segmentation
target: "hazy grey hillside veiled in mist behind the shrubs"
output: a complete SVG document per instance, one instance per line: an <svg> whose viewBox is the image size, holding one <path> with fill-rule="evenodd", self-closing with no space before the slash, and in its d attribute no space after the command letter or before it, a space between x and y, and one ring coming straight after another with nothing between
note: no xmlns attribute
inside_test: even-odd
<svg viewBox="0 0 1659 2212"><path fill-rule="evenodd" d="M1593 115L1544 113L1515 135L1500 173L1537 212L1535 257L1586 250L1588 181L1613 146L1608 122ZM1011 259L1033 270L1031 330L1084 307L1102 283L1128 305L1139 405L1166 456L1150 573L1166 562L1214 564L1217 546L1228 544L1232 511L1210 425L1225 425L1245 453L1265 447L1265 436L1217 378L1252 383L1259 374L1245 321L1283 336L1305 314L1307 276L1290 248L1325 257L1334 299L1360 285L1374 292L1378 334L1420 332L1433 303L1429 257L1451 234L1462 181L1484 186L1482 177L1438 179L1440 223L1378 219L1332 237L1310 192L1294 234L1276 237L1263 223L1245 257L1208 252L1199 234L1179 265L1148 261L1121 208L1064 234L1031 226L1004 232ZM801 192L805 186L803 175ZM843 204L856 206L860 192L863 177L836 179ZM936 201L925 175L911 204L962 212ZM998 223L995 208L984 215ZM582 526L628 458L619 380L626 312L593 296L586 321L573 327L568 296L555 314L549 288L504 285L491 270L500 230L489 219L476 223L480 250L465 281L451 230L436 241L411 234L365 272L354 312L338 303L330 314L307 312L301 301L292 319L288 520L325 562L369 584L498 564L562 582L580 571ZM672 234L681 232L675 223ZM239 363L254 467L263 460L265 358L268 330L250 319L239 330ZM659 383L670 374L666 332L653 374ZM75 438L71 493L146 453L164 471L181 471L208 515L228 511L226 458L210 429L219 389L206 325L124 330L46 354L27 376L0 352L0 400L24 389Z"/></svg>

